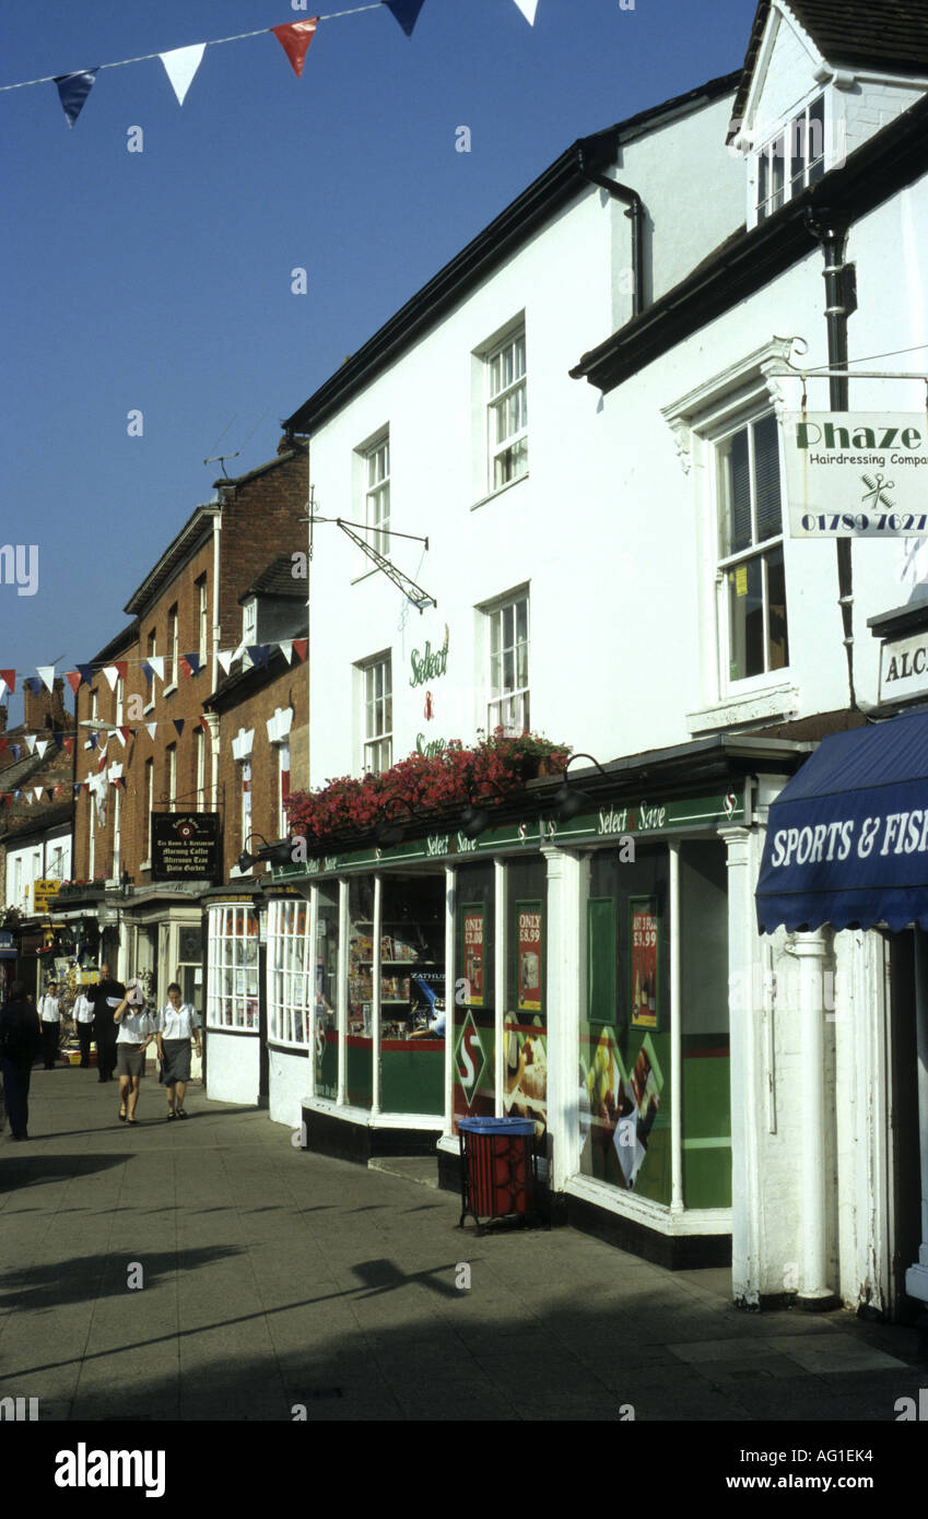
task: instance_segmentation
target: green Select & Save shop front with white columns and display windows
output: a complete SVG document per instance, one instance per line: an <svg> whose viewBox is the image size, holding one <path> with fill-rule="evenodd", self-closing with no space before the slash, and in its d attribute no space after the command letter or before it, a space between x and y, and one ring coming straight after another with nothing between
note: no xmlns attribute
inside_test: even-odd
<svg viewBox="0 0 928 1519"><path fill-rule="evenodd" d="M703 740L647 756L647 794L639 761L571 772L567 820L541 781L478 837L275 872L307 901L308 1148L436 1154L457 1189L462 1118L530 1118L554 1220L724 1264L729 980L756 948L758 796L794 747Z"/></svg>

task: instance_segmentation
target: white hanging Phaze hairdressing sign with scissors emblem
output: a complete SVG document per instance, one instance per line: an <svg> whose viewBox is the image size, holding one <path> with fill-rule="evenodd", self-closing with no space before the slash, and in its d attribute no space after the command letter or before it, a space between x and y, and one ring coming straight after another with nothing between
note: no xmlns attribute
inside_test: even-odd
<svg viewBox="0 0 928 1519"><path fill-rule="evenodd" d="M928 535L925 412L787 412L791 538Z"/></svg>

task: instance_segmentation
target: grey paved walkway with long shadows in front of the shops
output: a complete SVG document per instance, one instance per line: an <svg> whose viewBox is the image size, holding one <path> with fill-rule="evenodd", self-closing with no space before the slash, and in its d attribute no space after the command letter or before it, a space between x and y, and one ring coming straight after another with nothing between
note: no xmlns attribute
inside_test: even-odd
<svg viewBox="0 0 928 1519"><path fill-rule="evenodd" d="M744 1314L726 1270L573 1229L475 1236L431 1165L187 1107L147 1077L131 1129L115 1083L36 1069L29 1142L0 1136L0 1397L43 1422L892 1422L928 1388L914 1329Z"/></svg>

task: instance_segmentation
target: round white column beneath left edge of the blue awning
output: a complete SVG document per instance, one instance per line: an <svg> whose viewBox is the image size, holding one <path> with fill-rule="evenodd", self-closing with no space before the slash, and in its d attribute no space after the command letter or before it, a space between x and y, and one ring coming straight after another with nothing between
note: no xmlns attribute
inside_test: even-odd
<svg viewBox="0 0 928 1519"><path fill-rule="evenodd" d="M802 1247L799 1303L806 1308L834 1300L828 1285L826 1144L825 1144L825 998L822 930L796 934L799 960L799 1037L802 1056L802 1123L796 1136L802 1168Z"/></svg>

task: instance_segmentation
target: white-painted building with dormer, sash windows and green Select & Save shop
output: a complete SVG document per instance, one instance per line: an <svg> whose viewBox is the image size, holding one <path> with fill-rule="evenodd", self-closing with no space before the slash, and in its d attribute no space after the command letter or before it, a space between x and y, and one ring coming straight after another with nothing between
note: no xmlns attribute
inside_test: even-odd
<svg viewBox="0 0 928 1519"><path fill-rule="evenodd" d="M840 307L852 360L893 355L852 369L925 366L926 88L928 5L904 33L764 0L743 74L568 149L287 424L310 785L497 723L597 758L573 810L538 781L497 828L387 817L279 873L272 1115L340 1154L437 1144L450 1182L459 1116L527 1113L554 1209L667 1264L731 1252L747 1305L896 1314L907 1270L928 1299L920 930L755 910L784 782L898 709L867 620L919 632L925 539L790 536L784 463L790 360L837 365ZM848 404L923 413L925 384ZM447 1037L412 1042L415 972Z"/></svg>

